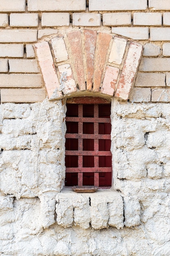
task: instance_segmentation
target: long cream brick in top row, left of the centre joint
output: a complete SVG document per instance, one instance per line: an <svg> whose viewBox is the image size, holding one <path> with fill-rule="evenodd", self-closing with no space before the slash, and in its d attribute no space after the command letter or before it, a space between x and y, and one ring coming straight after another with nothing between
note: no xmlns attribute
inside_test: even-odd
<svg viewBox="0 0 170 256"><path fill-rule="evenodd" d="M85 11L86 0L28 0L29 11Z"/></svg>

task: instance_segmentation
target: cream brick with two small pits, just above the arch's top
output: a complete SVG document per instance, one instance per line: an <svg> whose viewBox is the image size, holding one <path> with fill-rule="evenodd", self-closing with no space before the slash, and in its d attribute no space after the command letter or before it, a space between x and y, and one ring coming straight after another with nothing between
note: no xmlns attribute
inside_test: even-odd
<svg viewBox="0 0 170 256"><path fill-rule="evenodd" d="M73 26L99 27L100 25L99 13L73 13Z"/></svg>

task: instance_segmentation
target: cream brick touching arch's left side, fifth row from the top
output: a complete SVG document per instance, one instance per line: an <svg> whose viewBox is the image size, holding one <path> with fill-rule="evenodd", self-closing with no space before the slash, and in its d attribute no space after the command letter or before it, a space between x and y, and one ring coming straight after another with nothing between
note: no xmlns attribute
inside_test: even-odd
<svg viewBox="0 0 170 256"><path fill-rule="evenodd" d="M39 73L37 60L9 60L9 72L11 73Z"/></svg>

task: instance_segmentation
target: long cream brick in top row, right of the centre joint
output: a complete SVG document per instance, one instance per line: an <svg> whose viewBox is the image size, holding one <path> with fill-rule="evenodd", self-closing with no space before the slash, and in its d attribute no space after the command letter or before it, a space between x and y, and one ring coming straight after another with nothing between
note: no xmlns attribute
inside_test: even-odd
<svg viewBox="0 0 170 256"><path fill-rule="evenodd" d="M124 10L145 10L147 8L146 0L124 0L124 1L106 1L89 0L89 11L124 11Z"/></svg>

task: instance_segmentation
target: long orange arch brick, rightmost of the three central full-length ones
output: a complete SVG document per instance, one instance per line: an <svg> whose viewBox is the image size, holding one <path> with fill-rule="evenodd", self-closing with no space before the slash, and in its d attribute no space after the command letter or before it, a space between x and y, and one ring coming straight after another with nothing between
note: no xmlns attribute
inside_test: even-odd
<svg viewBox="0 0 170 256"><path fill-rule="evenodd" d="M106 61L106 54L108 52L108 47L112 36L110 34L105 34L99 32L97 48L95 53L95 72L93 81L93 91L99 92L100 84L102 81L102 73L104 71L104 64Z"/></svg>

